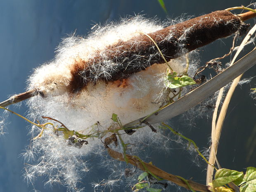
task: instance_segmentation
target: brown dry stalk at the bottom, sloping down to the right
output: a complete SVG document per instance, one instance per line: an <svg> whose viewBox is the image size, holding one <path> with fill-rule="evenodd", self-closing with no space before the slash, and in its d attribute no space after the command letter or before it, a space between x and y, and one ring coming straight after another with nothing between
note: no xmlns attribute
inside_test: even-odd
<svg viewBox="0 0 256 192"><path fill-rule="evenodd" d="M107 151L109 153L109 155L111 157L113 157L114 159L117 159L119 161L126 161L123 158L123 154L114 151L111 148L107 148ZM160 168L157 168L154 165L145 163L145 162L141 162L139 159L137 159L135 156L131 156L126 154L126 159L128 161L129 164L132 164L133 166L136 166L138 168L140 168L142 171L150 171L151 173L153 173L156 176L159 176L165 180L169 180L181 187L185 187L186 189L190 189L187 184L180 178L177 177L176 175L172 175L170 173L166 173L165 171L161 170ZM142 164L143 163L143 164ZM145 169L145 167L147 168L147 170ZM200 183L196 183L194 181L191 180L187 180L187 182L189 183L190 187L195 190L195 191L201 191L201 192L210 192L210 190L208 190L208 187L206 185L202 185Z"/></svg>

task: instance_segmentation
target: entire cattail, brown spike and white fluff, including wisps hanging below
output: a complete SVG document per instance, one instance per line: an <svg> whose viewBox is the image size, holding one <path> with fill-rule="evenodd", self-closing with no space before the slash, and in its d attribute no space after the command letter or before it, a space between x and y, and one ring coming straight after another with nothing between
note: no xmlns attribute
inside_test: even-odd
<svg viewBox="0 0 256 192"><path fill-rule="evenodd" d="M40 93L28 101L30 114L34 119L42 115L57 119L82 134L95 131L96 122L100 124L96 131L107 130L113 123L113 113L123 124L146 116L168 100L164 83L168 67L152 40L141 32L152 37L172 69L181 74L186 67L185 53L230 36L241 25L239 17L228 11L213 12L166 28L166 24L134 17L105 27L95 26L86 38L65 38L55 59L36 68L28 79L28 90ZM140 142L146 140L143 135L150 139L152 134L143 129L122 138L125 143L136 142L135 154ZM155 143L161 145L157 134ZM84 156L94 149L100 154L105 150L100 151L102 146L100 140L89 138L88 145L81 149L67 147L63 137L44 130L25 154L42 154L29 163L33 165L26 168L26 178L47 175L47 183L56 181L74 189L83 174L81 170L87 167ZM121 147L116 150L122 151Z"/></svg>

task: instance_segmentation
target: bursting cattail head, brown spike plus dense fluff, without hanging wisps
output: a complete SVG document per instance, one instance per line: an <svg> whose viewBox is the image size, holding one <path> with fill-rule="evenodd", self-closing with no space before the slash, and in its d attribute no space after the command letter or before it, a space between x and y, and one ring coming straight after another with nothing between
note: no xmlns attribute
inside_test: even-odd
<svg viewBox="0 0 256 192"><path fill-rule="evenodd" d="M128 123L162 104L156 95L164 83L157 82L167 69L152 40L140 32L155 40L172 65L170 59L229 36L241 24L230 12L216 11L166 28L135 17L98 27L86 39L71 36L58 47L56 59L29 78L28 89L44 97L33 98L31 108L83 133L96 121L107 128L113 113ZM182 73L183 66L174 70ZM81 123L66 122L72 116Z"/></svg>

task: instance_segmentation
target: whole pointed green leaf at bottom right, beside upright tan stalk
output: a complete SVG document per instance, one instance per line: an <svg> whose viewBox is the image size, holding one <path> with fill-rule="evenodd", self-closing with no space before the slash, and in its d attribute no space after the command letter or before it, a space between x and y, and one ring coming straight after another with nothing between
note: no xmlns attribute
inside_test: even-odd
<svg viewBox="0 0 256 192"><path fill-rule="evenodd" d="M213 180L213 188L220 187L227 183L230 183L239 177L241 177L244 173L239 171L234 171L230 169L219 169L216 171L215 179Z"/></svg>

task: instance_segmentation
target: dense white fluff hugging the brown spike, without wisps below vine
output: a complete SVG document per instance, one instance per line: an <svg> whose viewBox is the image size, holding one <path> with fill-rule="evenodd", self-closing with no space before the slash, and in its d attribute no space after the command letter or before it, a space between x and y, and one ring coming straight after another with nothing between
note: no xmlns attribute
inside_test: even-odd
<svg viewBox="0 0 256 192"><path fill-rule="evenodd" d="M151 33L161 28L154 22L135 17L118 25L98 27L86 39L74 36L64 39L56 59L35 69L29 78L28 89L36 88L44 95L44 98L31 99L31 109L36 110L34 113L37 116L50 116L83 134L87 134L90 131L88 128L97 121L104 128L109 127L113 113L126 124L156 111L168 97L162 95L159 98L165 89L161 80L166 74L166 64L154 64L123 81L90 82L86 89L75 93L70 93L67 87L71 81L70 71L76 61L88 61L95 57L98 50L104 58L108 45L139 36L139 32ZM159 54L157 50L156 54ZM186 65L183 59L169 63L178 73L182 73ZM115 63L106 65L109 65L104 66L107 76L110 73L108 70L114 70Z"/></svg>

